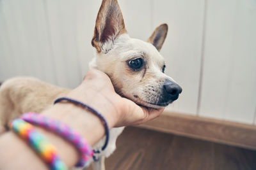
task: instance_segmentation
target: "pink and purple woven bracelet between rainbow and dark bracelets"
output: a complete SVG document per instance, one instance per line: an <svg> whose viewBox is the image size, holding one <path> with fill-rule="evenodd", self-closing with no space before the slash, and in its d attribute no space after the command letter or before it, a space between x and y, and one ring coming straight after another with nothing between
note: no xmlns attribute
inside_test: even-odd
<svg viewBox="0 0 256 170"><path fill-rule="evenodd" d="M81 153L81 159L77 162L76 166L87 166L86 163L88 163L88 160L93 156L93 150L88 143L86 143L86 141L68 125L36 113L25 113L20 118L31 124L45 127L46 129L49 129L70 141L70 143L76 146Z"/></svg>

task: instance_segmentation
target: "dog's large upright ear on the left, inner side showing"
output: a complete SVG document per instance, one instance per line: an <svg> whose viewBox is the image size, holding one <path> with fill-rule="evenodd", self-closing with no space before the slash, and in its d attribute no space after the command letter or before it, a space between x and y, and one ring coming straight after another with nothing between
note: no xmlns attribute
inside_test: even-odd
<svg viewBox="0 0 256 170"><path fill-rule="evenodd" d="M125 32L127 31L124 18L117 0L103 0L96 19L92 46L98 53L107 53L111 49L113 41ZM104 45L105 43L111 44Z"/></svg>

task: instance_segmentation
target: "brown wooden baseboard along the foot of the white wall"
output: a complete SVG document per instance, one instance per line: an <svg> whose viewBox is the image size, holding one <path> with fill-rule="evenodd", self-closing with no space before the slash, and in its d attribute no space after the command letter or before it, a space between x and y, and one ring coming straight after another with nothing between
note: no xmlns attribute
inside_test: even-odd
<svg viewBox="0 0 256 170"><path fill-rule="evenodd" d="M164 112L138 127L256 150L256 126Z"/></svg>

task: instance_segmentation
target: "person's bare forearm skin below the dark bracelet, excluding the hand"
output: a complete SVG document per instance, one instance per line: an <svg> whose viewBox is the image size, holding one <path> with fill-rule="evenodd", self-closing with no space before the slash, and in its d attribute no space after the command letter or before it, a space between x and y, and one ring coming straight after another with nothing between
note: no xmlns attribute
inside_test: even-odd
<svg viewBox="0 0 256 170"><path fill-rule="evenodd" d="M109 128L114 126L114 122L108 119L108 111L102 113L107 118ZM49 110L45 110L42 115L60 120L77 131L89 145L93 146L104 136L105 130L98 117L74 104L56 104ZM65 139L60 136L45 131L41 127L36 127L49 141L56 147L61 160L72 167L79 160L79 152ZM0 169L47 169L46 164L36 155L32 148L19 138L14 132L6 132L0 138ZM13 164L15 162L15 164ZM42 168L41 168L42 167Z"/></svg>

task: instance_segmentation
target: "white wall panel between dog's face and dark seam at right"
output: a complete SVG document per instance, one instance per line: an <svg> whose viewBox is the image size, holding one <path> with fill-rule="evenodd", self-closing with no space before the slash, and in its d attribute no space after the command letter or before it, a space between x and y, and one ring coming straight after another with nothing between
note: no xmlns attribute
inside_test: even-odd
<svg viewBox="0 0 256 170"><path fill-rule="evenodd" d="M153 25L167 23L168 35L161 53L166 59L166 74L176 80L183 91L169 110L196 114L200 78L200 58L204 1L154 0Z"/></svg>

